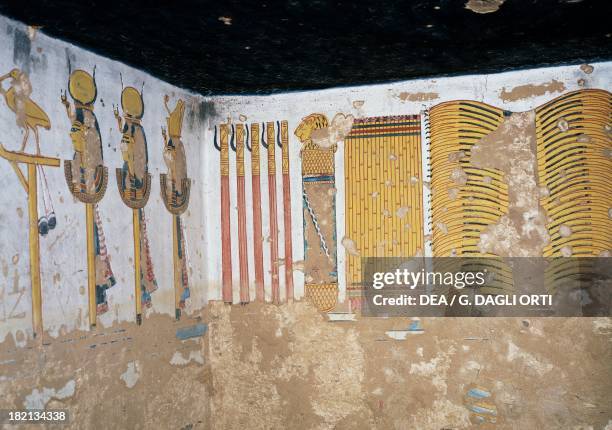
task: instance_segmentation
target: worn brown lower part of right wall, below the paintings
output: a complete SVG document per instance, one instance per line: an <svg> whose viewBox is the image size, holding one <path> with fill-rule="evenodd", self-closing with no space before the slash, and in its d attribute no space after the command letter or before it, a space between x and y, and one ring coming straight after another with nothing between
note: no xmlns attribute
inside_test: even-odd
<svg viewBox="0 0 612 430"><path fill-rule="evenodd" d="M425 318L422 335L392 340L409 320L325 322L305 303L209 309L219 428L469 428L474 386L490 393L496 428L608 422L607 318Z"/></svg>

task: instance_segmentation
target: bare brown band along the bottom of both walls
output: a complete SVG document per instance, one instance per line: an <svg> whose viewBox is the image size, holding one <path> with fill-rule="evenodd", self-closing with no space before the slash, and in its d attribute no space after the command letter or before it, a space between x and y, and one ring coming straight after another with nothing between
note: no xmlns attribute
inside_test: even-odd
<svg viewBox="0 0 612 430"><path fill-rule="evenodd" d="M177 339L198 322L207 333ZM11 339L0 409L67 408L74 429L612 428L610 319L424 318L407 334L411 323L211 303L178 323ZM481 409L470 389L486 393Z"/></svg>

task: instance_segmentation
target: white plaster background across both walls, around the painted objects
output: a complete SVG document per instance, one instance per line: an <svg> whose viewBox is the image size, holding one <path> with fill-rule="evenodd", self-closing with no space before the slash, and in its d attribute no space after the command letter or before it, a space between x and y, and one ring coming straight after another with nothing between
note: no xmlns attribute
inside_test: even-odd
<svg viewBox="0 0 612 430"><path fill-rule="evenodd" d="M503 88L511 90L520 85L540 85L557 80L565 91L579 89L578 80L584 79L584 87L612 89L612 62L593 64L594 71L585 74L578 65L521 70L493 75L470 75L434 79L420 79L390 84L345 87L321 91L292 92L270 96L221 96L202 97L171 86L143 72L121 63L101 58L70 44L37 34L31 41L29 54L15 45L15 32L22 35L27 28L22 24L0 17L0 73L19 67L29 73L33 85L32 99L50 116L53 127L41 131L43 153L62 159L72 158L68 136L70 122L60 103L60 91L67 87L69 57L73 68L92 70L96 65L98 100L95 113L100 123L105 150L105 162L112 174L122 164L112 104L120 100L119 73L125 85L139 87L143 81L145 127L149 142L150 171L154 175L151 199L147 206L148 231L152 247L155 273L159 290L153 294L153 308L149 312L173 314L172 258L170 215L159 197L159 173L165 172L162 160L160 127L165 125L163 95L171 96L173 106L177 98L186 101L187 112L183 126L189 174L195 180L190 209L184 216L189 235L189 253L192 300L188 311L199 309L207 300L221 297L221 232L219 208L219 153L213 147L213 127L221 122L247 123L288 120L291 192L293 257L303 259L302 196L299 149L300 143L293 130L301 119L310 113L327 115L330 119L338 113L355 117L417 114L429 107L448 100L469 99L489 103L511 111L533 109L561 93L547 93L505 103L500 98ZM23 36L22 36L23 38ZM6 83L5 83L6 85ZM404 101L406 93L437 93L438 97L424 102ZM354 101L364 101L360 108ZM15 125L14 115L0 102L0 142L8 148L16 148L21 132ZM425 146L425 143L424 143ZM426 148L424 148L426 149ZM344 236L344 168L342 144L336 154L336 210L338 242ZM425 153L425 151L423 152ZM230 168L235 172L235 154L230 152ZM261 189L263 235L269 237L268 184L266 152L261 151ZM250 153L245 151L246 204L249 240L249 271L254 279L252 255L253 233L251 228ZM279 255L284 257L282 179L280 175L280 149L277 148L277 210L280 228ZM0 341L8 333L31 333L30 281L27 242L26 196L8 163L0 159ZM233 173L232 173L233 175ZM59 225L48 237L41 239L41 272L43 280L43 318L45 329L57 336L62 331L87 328L87 296L79 292L86 286L85 239L83 236L85 209L74 202L67 190L61 169L47 169ZM238 301L238 243L237 205L234 177L230 180L232 253L234 269L234 300ZM18 216L18 209L23 217ZM100 318L103 325L113 321L134 318L133 269L130 261L131 241L130 210L121 202L114 176L109 180L107 195L100 204L104 220L107 245L112 257L113 271L118 285L108 291L111 310ZM13 263L13 256L18 261ZM338 274L341 300L344 298L345 252L338 245ZM270 295L269 242L264 242L264 271L266 295ZM280 270L281 294L284 295L283 267ZM59 281L54 281L54 276ZM295 272L296 297L303 294L303 275ZM21 293L23 292L23 294ZM254 286L251 286L254 297ZM146 322L145 322L146 323Z"/></svg>

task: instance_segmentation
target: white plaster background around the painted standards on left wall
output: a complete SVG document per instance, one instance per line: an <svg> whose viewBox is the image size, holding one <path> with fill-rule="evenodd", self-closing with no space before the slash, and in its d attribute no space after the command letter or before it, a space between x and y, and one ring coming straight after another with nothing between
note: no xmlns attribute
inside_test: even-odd
<svg viewBox="0 0 612 430"><path fill-rule="evenodd" d="M106 235L108 252L117 285L107 291L109 311L100 316L99 323L108 326L113 321L133 320L134 271L131 209L119 197L115 168L123 164L119 143L121 135L113 116L113 104L120 104L120 73L125 86L140 88L144 81L145 128L149 149L149 171L153 175L151 197L146 206L147 229L152 259L159 289L153 293L153 307L147 312L174 315L172 268L171 215L160 197L159 174L166 172L163 162L161 126L166 125L163 96L170 96L170 107L182 98L186 103L182 140L188 159L189 176L194 179L188 211L183 215L191 257L191 300L187 311L194 311L206 302L207 271L216 249L202 247L208 236L203 226L210 215L205 214L206 195L202 175L218 169L211 160L211 152L203 151L203 132L206 127L207 100L180 88L155 79L124 64L110 61L73 45L49 38L42 33L30 40L28 28L0 17L0 74L17 67L28 73L33 91L31 98L51 119L50 130L40 129L42 153L62 160L72 159L69 137L70 120L60 103L60 92L68 85L68 59L72 69L90 73L96 66L98 97L95 114L100 124L104 147L104 161L109 170L108 189L99 204ZM17 41L17 42L16 42ZM25 43L24 43L25 42ZM28 50L28 43L30 48ZM8 88L9 80L3 82ZM1 99L1 98L0 98ZM72 101L70 96L68 100ZM0 142L7 149L19 149L22 130L15 123L15 115L5 101L0 100ZM28 151L35 150L34 139ZM40 238L41 278L44 329L51 336L74 329L88 328L87 265L85 241L85 206L73 199L68 191L63 167L45 169L49 182L58 225L46 237ZM212 174L216 177L217 174ZM9 333L19 331L31 335L31 295L28 251L27 196L9 163L0 158L0 342ZM40 189L39 189L40 192ZM19 215L22 214L22 215ZM217 218L214 218L215 220ZM210 245L210 242L205 242ZM145 321L146 323L146 321ZM19 334L18 339L24 339Z"/></svg>

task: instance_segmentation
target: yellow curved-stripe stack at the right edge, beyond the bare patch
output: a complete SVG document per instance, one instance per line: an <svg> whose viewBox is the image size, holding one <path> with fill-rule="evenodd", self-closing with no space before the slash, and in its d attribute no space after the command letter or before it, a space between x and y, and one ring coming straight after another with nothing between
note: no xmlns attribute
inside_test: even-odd
<svg viewBox="0 0 612 430"><path fill-rule="evenodd" d="M611 115L604 90L574 91L536 109L539 179L549 193L542 199L551 237L544 257L612 250Z"/></svg>

